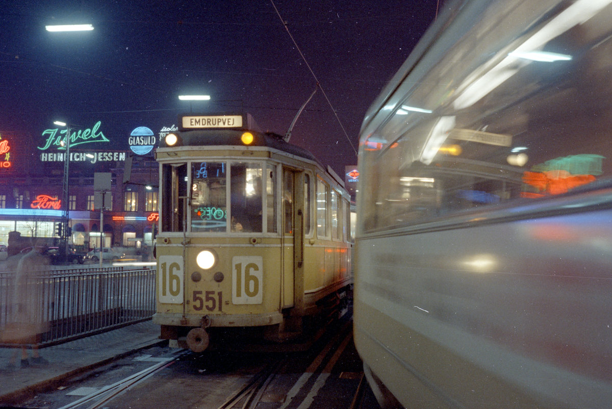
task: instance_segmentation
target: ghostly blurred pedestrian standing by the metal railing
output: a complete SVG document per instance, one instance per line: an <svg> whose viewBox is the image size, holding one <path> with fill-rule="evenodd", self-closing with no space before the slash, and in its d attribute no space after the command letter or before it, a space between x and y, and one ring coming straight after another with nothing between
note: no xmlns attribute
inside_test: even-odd
<svg viewBox="0 0 612 409"><path fill-rule="evenodd" d="M43 332L47 331L47 323L43 321L42 309L42 280L40 272L48 264L42 253L47 245L32 247L17 265L15 280L13 281L11 314L6 327L0 334L3 343L20 345L21 367L28 367L30 363L40 366L47 360L39 354L38 346ZM32 348L32 359L28 360L28 345ZM9 369L16 369L19 350L13 351L9 360Z"/></svg>

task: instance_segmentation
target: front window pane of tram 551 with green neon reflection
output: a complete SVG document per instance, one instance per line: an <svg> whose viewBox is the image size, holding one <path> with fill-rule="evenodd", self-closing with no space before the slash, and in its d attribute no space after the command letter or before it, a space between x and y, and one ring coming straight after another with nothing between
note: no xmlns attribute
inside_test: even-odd
<svg viewBox="0 0 612 409"><path fill-rule="evenodd" d="M192 164L192 231L226 231L226 165L223 162Z"/></svg>

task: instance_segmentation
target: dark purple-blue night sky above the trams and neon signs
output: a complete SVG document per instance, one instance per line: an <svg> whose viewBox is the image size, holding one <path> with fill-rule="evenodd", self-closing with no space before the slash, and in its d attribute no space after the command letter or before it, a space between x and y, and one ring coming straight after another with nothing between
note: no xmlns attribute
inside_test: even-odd
<svg viewBox="0 0 612 409"><path fill-rule="evenodd" d="M113 149L128 149L136 127L157 135L193 111L250 113L262 130L284 134L316 80L274 6L326 94L317 90L291 143L343 174L357 163L365 111L434 20L438 0L4 1L0 131L40 144L56 119L102 121ZM95 29L45 31L65 18ZM178 100L195 93L211 100Z"/></svg>

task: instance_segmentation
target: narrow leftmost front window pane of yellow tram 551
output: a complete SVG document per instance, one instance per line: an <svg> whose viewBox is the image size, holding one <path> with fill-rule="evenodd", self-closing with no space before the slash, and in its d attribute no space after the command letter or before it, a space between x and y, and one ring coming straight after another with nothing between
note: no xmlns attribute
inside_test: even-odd
<svg viewBox="0 0 612 409"><path fill-rule="evenodd" d="M162 230L183 231L185 197L187 197L187 164L162 166Z"/></svg>

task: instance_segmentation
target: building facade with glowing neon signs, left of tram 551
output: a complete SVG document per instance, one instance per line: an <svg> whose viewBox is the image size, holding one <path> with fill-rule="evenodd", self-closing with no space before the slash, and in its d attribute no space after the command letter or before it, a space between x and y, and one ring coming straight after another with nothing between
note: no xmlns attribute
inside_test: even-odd
<svg viewBox="0 0 612 409"><path fill-rule="evenodd" d="M154 158L158 137L136 129L125 150L103 134L100 122L91 128L48 129L41 135L0 131L0 244L9 232L21 237L59 239L68 169L69 242L83 250L100 247L151 246L157 231L159 167ZM32 143L34 141L35 143ZM68 163L66 163L68 162ZM68 165L66 167L66 165ZM111 174L104 204L96 199L94 176Z"/></svg>

